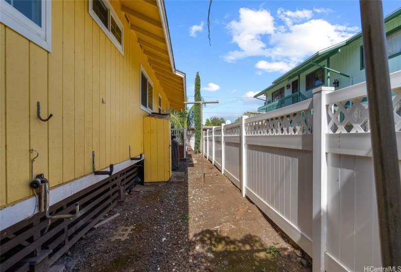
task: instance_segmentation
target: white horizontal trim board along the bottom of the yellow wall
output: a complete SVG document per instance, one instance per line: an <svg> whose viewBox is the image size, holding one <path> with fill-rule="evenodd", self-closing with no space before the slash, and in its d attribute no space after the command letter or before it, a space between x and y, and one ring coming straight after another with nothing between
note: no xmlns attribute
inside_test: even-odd
<svg viewBox="0 0 401 272"><path fill-rule="evenodd" d="M142 155L142 160L145 158L144 155ZM127 167L130 167L137 162L141 161L141 159L138 160L126 160L123 161L122 163L115 164L114 165L114 173L117 173L121 170L124 170ZM105 171L110 170L109 168L106 168ZM57 202L60 202L71 195L86 189L87 187L90 187L102 180L105 179L104 175L95 175L95 174L89 174L87 176L78 178L72 182L69 182L65 185L61 185L59 187L56 187L54 189L50 190L50 206L53 204L56 204ZM52 184L52 181L49 181L50 184ZM25 220L28 217L32 215L33 212L33 207L35 206L35 197L31 197L27 200L21 201L17 204L8 206L3 208L0 211L0 230L4 230L8 228L9 226L12 226L16 224L19 221ZM35 208L35 213L39 211L38 205ZM34 214L35 214L34 213Z"/></svg>

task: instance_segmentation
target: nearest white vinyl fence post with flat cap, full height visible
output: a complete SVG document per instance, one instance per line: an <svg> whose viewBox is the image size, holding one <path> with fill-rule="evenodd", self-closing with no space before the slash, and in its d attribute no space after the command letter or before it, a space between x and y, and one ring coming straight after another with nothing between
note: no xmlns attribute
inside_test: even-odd
<svg viewBox="0 0 401 272"><path fill-rule="evenodd" d="M327 251L327 155L326 134L328 131L326 95L334 87L319 87L313 90L313 271L325 271Z"/></svg>

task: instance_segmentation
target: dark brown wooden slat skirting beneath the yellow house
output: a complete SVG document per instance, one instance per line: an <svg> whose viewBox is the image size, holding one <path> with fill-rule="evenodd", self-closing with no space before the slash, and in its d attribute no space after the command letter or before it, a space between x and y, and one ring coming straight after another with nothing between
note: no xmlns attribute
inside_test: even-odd
<svg viewBox="0 0 401 272"><path fill-rule="evenodd" d="M128 187L139 176L143 180L143 161L105 178L50 207L51 215L73 213L76 218L49 220L45 213L20 221L0 233L0 271L48 271L49 267L92 228L108 211L126 197Z"/></svg>

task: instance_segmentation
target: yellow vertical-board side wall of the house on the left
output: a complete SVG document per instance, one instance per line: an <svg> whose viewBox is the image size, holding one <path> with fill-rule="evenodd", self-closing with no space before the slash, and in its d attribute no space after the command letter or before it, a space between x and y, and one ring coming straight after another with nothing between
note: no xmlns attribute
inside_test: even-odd
<svg viewBox="0 0 401 272"><path fill-rule="evenodd" d="M144 152L140 109L140 65L154 84L163 110L169 102L147 57L124 25L124 55L88 13L82 0L52 1L52 52L0 24L0 206L32 194L31 148L39 152L34 175L51 187ZM105 104L102 103L105 100ZM36 102L41 116L37 118ZM146 154L145 154L146 155Z"/></svg>

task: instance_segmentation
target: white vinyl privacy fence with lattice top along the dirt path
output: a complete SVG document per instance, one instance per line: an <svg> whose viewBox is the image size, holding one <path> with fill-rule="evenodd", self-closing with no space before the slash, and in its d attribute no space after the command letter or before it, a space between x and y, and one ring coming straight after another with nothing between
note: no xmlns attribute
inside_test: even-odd
<svg viewBox="0 0 401 272"><path fill-rule="evenodd" d="M401 72L390 80L397 108ZM204 155L312 256L313 271L359 272L382 266L366 83L333 90L205 132Z"/></svg>

